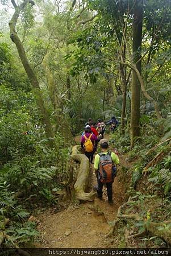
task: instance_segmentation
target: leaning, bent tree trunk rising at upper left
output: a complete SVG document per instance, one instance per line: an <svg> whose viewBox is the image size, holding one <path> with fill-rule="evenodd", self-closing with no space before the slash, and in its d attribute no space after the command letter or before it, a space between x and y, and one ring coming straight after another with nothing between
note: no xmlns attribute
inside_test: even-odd
<svg viewBox="0 0 171 256"><path fill-rule="evenodd" d="M44 101L41 96L39 81L37 80L35 72L31 68L30 63L28 63L28 59L27 59L23 44L20 41L20 39L15 31L15 26L16 26L16 22L18 20L20 11L22 11L24 9L24 7L26 7L27 3L29 3L29 2L30 1L24 1L19 7L14 5L15 13L9 22L10 38L11 38L12 42L15 43L16 48L18 49L18 54L19 54L20 60L22 61L23 67L27 73L28 79L30 79L31 84L32 84L33 88L35 89L36 103L37 103L38 109L40 110L40 113L41 113L41 120L42 120L43 124L45 125L45 132L46 132L47 138L53 138L54 133L52 130L52 126L51 126L51 122L50 122L50 118L49 118L47 109L45 108ZM31 1L31 4L33 4L32 1ZM49 141L49 144L51 146L53 146L52 140Z"/></svg>

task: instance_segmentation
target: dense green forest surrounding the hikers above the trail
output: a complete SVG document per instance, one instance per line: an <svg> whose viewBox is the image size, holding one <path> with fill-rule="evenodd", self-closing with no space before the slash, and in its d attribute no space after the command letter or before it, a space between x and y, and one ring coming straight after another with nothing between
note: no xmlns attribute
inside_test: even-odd
<svg viewBox="0 0 171 256"><path fill-rule="evenodd" d="M37 236L35 224L24 222L30 199L57 203L70 146L88 118L115 115L115 145L141 157L133 187L149 163L151 182L170 196L170 0L1 0L0 7L0 222L12 220L7 245ZM155 144L151 163L154 152L145 154Z"/></svg>

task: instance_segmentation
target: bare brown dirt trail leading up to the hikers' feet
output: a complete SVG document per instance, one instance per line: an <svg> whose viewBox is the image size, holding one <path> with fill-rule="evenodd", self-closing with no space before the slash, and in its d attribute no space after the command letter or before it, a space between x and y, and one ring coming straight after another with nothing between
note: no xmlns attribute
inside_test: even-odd
<svg viewBox="0 0 171 256"><path fill-rule="evenodd" d="M96 184L95 176L93 184ZM38 226L43 238L41 247L105 246L104 237L110 230L110 221L115 219L119 206L123 204L124 192L116 177L113 185L114 205L109 205L106 188L103 190L102 201L96 198L93 203L70 205L59 213L51 209L41 214Z"/></svg>

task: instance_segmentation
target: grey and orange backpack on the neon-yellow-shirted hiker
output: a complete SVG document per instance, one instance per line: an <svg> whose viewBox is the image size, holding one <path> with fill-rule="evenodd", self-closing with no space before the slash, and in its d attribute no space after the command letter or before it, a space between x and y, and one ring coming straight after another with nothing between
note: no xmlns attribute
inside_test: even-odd
<svg viewBox="0 0 171 256"><path fill-rule="evenodd" d="M111 159L111 152L107 155L99 153L99 179L102 183L113 182L116 176L116 167Z"/></svg>

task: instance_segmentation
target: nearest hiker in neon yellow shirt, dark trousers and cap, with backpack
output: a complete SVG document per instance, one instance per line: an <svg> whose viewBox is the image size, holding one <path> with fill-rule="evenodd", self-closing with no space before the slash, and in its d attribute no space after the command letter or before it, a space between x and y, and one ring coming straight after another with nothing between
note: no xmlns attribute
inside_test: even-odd
<svg viewBox="0 0 171 256"><path fill-rule="evenodd" d="M95 155L94 171L97 175L97 196L102 200L103 185L106 184L107 196L109 204L113 203L112 200L112 183L116 176L116 167L114 164L119 164L118 155L109 151L109 142L107 139L100 141L101 153Z"/></svg>

